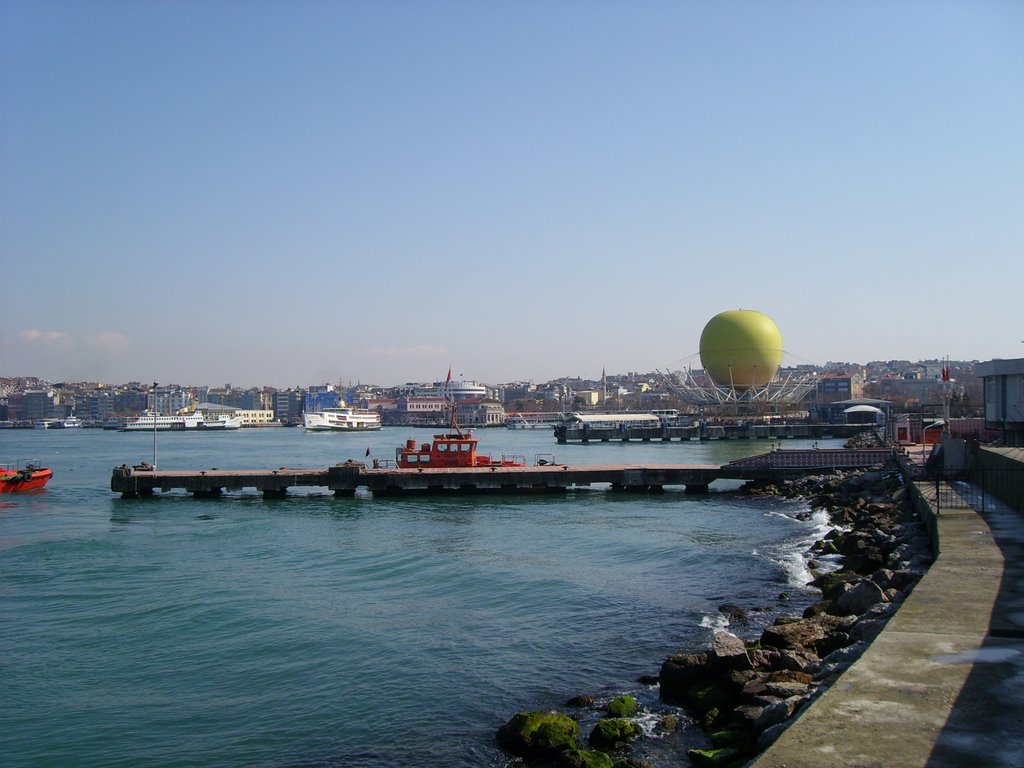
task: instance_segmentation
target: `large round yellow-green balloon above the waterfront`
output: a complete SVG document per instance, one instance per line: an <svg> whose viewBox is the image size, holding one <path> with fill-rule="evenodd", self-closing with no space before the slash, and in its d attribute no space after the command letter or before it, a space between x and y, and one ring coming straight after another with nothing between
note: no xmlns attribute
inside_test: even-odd
<svg viewBox="0 0 1024 768"><path fill-rule="evenodd" d="M700 362L720 386L763 387L782 362L782 334L763 312L720 312L700 334Z"/></svg>

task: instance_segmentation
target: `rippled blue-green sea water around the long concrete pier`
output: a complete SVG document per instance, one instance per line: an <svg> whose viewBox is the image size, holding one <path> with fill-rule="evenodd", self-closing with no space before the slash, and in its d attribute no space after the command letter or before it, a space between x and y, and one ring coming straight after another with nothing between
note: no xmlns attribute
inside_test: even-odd
<svg viewBox="0 0 1024 768"><path fill-rule="evenodd" d="M568 464L722 463L770 444L478 434L495 455ZM162 433L158 464L325 467L429 435ZM705 643L723 602L770 608L733 628L744 636L801 610L802 555L822 530L798 519L806 505L734 482L703 497L123 500L111 470L152 461L148 433L0 431L0 460L26 459L55 475L0 497L5 766L505 766L495 731L521 710L630 693L671 712L638 676ZM677 764L701 739L684 725L643 756Z"/></svg>

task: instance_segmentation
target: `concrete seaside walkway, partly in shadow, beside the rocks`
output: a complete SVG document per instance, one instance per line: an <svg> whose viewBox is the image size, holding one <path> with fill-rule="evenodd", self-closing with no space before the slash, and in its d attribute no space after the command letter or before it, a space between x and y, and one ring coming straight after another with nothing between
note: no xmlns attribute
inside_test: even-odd
<svg viewBox="0 0 1024 768"><path fill-rule="evenodd" d="M943 494L936 561L754 768L1024 766L1024 518L992 506Z"/></svg>

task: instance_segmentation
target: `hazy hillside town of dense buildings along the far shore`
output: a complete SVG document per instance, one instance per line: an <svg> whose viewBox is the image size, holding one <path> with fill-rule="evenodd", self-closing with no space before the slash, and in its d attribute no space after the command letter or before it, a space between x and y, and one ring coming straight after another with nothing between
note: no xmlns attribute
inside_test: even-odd
<svg viewBox="0 0 1024 768"><path fill-rule="evenodd" d="M762 416L828 420L828 406L858 398L885 401L900 413L925 418L946 412L953 417L983 416L983 383L977 360L929 359L828 362L779 371L779 378L806 382L797 403L764 409ZM687 372L696 381L701 371ZM519 414L572 412L649 412L698 409L660 372L563 377L483 384L476 381L296 385L275 387L186 386L174 383L51 382L36 377L0 378L0 427L29 428L41 421L76 419L85 427L112 427L145 411L178 413L200 408L243 415L243 426L289 426L307 411L339 402L377 411L384 425L437 425L455 402L467 427L505 426Z"/></svg>

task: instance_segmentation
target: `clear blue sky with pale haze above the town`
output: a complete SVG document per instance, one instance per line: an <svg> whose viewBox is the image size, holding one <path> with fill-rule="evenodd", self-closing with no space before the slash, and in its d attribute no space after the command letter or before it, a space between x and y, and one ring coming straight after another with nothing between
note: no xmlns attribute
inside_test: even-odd
<svg viewBox="0 0 1024 768"><path fill-rule="evenodd" d="M1024 356L1024 3L4 0L0 376Z"/></svg>

